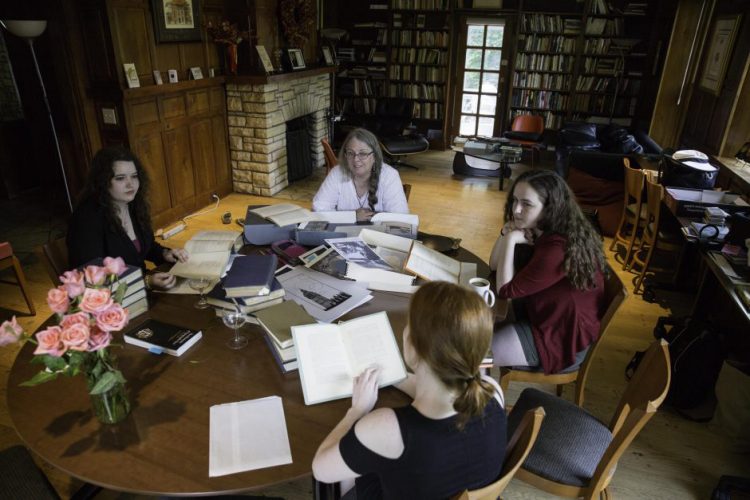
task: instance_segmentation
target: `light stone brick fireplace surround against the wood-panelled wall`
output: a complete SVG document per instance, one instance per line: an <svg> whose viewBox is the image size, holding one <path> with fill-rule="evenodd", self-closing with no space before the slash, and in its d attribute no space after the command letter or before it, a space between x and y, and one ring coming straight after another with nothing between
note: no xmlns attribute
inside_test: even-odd
<svg viewBox="0 0 750 500"><path fill-rule="evenodd" d="M272 196L289 184L286 122L302 116L310 115L307 121L312 162L322 166L325 159L320 140L327 134L329 106L327 71L228 80L227 121L234 191Z"/></svg>

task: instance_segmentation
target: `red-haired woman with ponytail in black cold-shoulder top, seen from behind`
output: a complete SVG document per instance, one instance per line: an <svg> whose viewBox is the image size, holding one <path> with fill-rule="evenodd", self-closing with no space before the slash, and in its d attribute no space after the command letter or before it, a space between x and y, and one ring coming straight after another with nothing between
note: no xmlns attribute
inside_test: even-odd
<svg viewBox="0 0 750 500"><path fill-rule="evenodd" d="M377 368L354 379L352 406L313 458L319 481L341 482L342 498L452 498L497 480L506 444L502 390L479 369L492 338L492 311L474 291L422 285L411 299L396 385L410 405L373 410ZM347 491L349 490L349 491Z"/></svg>

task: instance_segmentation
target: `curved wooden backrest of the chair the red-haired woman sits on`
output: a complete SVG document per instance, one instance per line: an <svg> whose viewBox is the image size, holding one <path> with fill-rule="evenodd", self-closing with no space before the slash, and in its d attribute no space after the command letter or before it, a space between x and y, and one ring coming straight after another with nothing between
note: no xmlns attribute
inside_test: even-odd
<svg viewBox="0 0 750 500"><path fill-rule="evenodd" d="M505 448L505 462L500 479L478 490L464 490L454 498L456 500L495 500L500 497L518 468L526 460L531 447L534 446L542 420L544 420L544 408L528 410Z"/></svg>

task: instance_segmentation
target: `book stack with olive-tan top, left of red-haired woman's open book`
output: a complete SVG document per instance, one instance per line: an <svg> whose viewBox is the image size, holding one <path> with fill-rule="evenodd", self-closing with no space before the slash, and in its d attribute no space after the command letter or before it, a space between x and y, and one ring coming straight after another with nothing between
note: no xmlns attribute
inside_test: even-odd
<svg viewBox="0 0 750 500"><path fill-rule="evenodd" d="M297 350L292 339L292 327L315 324L315 318L293 300L258 311L255 318L266 332L266 343L282 373L296 370Z"/></svg>

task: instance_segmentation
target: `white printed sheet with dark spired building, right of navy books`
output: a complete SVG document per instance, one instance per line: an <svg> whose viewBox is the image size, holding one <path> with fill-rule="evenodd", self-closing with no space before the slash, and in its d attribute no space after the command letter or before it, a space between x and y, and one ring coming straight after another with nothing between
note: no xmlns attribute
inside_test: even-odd
<svg viewBox="0 0 750 500"><path fill-rule="evenodd" d="M372 299L361 283L339 280L327 274L297 266L276 271L287 299L294 300L318 321L330 323Z"/></svg>

